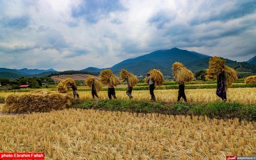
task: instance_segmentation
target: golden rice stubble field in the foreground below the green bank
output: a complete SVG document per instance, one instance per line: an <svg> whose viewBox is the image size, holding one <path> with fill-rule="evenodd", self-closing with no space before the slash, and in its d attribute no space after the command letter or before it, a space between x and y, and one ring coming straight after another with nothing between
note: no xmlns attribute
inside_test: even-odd
<svg viewBox="0 0 256 160"><path fill-rule="evenodd" d="M256 124L238 119L65 109L0 115L0 120L0 152L44 152L45 159L225 159L256 155Z"/></svg>

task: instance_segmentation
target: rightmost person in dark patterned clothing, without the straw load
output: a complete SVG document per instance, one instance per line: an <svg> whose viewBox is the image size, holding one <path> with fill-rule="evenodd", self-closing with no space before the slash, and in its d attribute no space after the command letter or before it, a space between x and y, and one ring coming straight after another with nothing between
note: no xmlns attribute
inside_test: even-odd
<svg viewBox="0 0 256 160"><path fill-rule="evenodd" d="M218 95L218 97L221 98L223 102L227 100L227 93L225 89L226 89L225 88L225 72L224 70L222 70L218 75L218 79L217 79L216 94Z"/></svg>

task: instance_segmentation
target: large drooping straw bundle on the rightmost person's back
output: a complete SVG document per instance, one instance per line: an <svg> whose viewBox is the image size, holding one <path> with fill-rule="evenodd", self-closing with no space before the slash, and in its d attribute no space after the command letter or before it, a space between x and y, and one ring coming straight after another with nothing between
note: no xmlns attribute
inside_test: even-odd
<svg viewBox="0 0 256 160"><path fill-rule="evenodd" d="M225 60L222 60L220 57L212 57L209 61L209 67L207 68L207 74L205 78L209 81L216 79L218 75L221 73L222 69L224 68L225 74L225 85L231 86L237 78L237 72L233 68L228 67L225 65ZM227 87L225 87L227 90Z"/></svg>

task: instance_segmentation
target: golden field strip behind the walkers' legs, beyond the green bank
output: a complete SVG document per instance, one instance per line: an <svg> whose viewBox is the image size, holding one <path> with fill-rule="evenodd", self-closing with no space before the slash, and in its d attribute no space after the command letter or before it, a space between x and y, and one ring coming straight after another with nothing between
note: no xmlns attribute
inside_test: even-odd
<svg viewBox="0 0 256 160"><path fill-rule="evenodd" d="M70 91L71 92L71 91ZM78 91L79 92L79 91ZM1 97L7 97L13 92L0 92ZM26 92L24 92L26 93ZM16 94L24 94L17 92ZM176 102L178 90L155 90L157 101ZM202 103L202 102L216 102L221 100L216 95L216 89L196 89L185 90L188 102ZM100 99L108 99L107 91L100 91ZM79 92L81 99L92 99L91 92ZM134 90L132 91L134 100L149 100L150 94L148 90ZM129 99L125 91L116 91L118 99ZM229 88L227 91L227 102L241 102L243 104L256 104L256 88Z"/></svg>

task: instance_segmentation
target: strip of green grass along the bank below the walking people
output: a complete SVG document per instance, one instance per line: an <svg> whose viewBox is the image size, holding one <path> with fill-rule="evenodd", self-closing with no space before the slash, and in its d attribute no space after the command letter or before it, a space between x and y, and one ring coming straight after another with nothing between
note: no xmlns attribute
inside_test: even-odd
<svg viewBox="0 0 256 160"><path fill-rule="evenodd" d="M256 121L256 106L239 102L209 102L203 104L166 103L136 100L74 100L72 108L128 111L134 113L161 113L165 115L208 116L209 118Z"/></svg>

